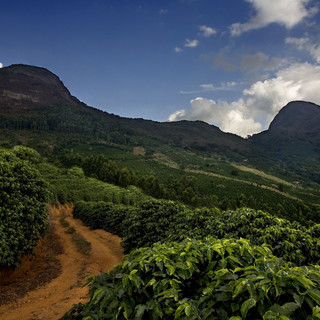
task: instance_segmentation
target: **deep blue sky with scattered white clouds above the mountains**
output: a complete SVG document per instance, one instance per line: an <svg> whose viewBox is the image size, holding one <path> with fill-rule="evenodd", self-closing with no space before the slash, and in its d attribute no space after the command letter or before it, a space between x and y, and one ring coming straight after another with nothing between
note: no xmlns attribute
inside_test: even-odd
<svg viewBox="0 0 320 320"><path fill-rule="evenodd" d="M44 67L89 106L246 137L320 104L319 0L10 0L0 68Z"/></svg>

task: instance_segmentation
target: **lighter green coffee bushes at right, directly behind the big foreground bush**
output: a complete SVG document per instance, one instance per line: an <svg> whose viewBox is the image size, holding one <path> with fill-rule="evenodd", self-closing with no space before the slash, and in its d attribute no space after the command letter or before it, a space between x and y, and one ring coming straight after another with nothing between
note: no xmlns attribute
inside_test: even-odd
<svg viewBox="0 0 320 320"><path fill-rule="evenodd" d="M320 260L320 239L315 227L307 229L298 222L276 218L263 211L238 209L207 220L202 235L218 238L246 238L254 244L267 243L276 256L297 265L314 264Z"/></svg>

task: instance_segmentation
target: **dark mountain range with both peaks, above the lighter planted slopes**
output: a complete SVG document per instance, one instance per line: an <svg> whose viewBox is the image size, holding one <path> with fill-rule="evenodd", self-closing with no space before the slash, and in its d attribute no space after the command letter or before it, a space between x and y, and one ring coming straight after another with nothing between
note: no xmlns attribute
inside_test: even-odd
<svg viewBox="0 0 320 320"><path fill-rule="evenodd" d="M99 144L154 154L162 146L226 156L265 171L288 172L320 183L320 107L290 102L268 130L243 139L202 121L130 119L87 106L47 69L0 69L0 144L71 150ZM170 153L170 152L169 152Z"/></svg>

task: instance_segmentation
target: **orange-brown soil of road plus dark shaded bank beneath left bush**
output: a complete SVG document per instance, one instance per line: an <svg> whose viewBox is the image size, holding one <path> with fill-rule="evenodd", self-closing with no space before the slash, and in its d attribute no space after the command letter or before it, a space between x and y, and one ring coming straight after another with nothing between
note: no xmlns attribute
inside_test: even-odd
<svg viewBox="0 0 320 320"><path fill-rule="evenodd" d="M73 304L86 302L86 277L111 270L122 260L121 239L103 230L90 230L72 218L72 206L49 206L50 228L35 249L14 272L0 279L0 319L57 320ZM60 219L88 241L83 254ZM3 277L5 274L5 277Z"/></svg>

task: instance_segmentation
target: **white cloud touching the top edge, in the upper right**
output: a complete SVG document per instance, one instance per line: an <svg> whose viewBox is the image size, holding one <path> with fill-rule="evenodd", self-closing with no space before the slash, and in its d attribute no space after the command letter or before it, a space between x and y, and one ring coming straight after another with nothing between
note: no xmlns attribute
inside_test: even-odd
<svg viewBox="0 0 320 320"><path fill-rule="evenodd" d="M230 27L232 36L243 32L263 28L278 23L290 29L308 16L317 12L317 8L307 8L310 0L246 0L256 10L256 15L248 22L234 23Z"/></svg>

